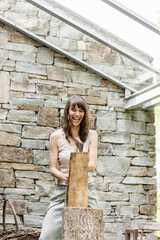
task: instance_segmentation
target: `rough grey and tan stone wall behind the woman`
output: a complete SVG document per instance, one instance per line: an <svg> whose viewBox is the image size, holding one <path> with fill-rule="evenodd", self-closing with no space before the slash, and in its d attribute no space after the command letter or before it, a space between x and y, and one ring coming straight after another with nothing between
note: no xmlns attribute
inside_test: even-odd
<svg viewBox="0 0 160 240"><path fill-rule="evenodd" d="M25 1L0 0L0 8L6 18L134 87L146 73ZM126 111L124 89L4 24L0 39L0 215L8 197L19 223L41 227L55 185L49 134L60 127L67 98L78 94L89 106L90 128L99 137L93 178L104 210L105 239L122 240L125 228L155 219L153 112ZM148 234L144 239L154 238Z"/></svg>

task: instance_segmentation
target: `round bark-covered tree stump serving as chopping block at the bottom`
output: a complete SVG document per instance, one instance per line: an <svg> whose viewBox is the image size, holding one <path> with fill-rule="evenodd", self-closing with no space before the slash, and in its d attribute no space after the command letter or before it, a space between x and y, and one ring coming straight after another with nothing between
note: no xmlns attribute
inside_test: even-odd
<svg viewBox="0 0 160 240"><path fill-rule="evenodd" d="M62 240L104 240L103 210L63 208Z"/></svg>

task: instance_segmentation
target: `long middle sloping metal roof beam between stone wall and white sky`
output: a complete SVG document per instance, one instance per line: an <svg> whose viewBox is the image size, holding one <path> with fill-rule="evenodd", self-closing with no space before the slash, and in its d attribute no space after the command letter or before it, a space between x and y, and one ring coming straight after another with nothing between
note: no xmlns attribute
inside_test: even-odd
<svg viewBox="0 0 160 240"><path fill-rule="evenodd" d="M52 8L51 6L49 6L48 4L46 4L44 2L40 3L39 0L26 0L26 1L33 4L34 6L38 7L39 9L49 13L50 15L60 19L61 21L67 23L68 25L78 29L79 31L92 37L93 39L97 40L98 42L111 47L116 52L119 52L123 56L138 63L139 65L143 66L144 68L148 69L149 71L160 75L160 70L155 68L153 65L151 65L147 61L144 61L142 58L131 53L131 51L126 50L125 48L118 46L118 44L108 40L106 37L104 37L100 33L99 26L97 26L94 23L89 22L82 16L74 13L74 16L75 15L77 16L77 18L75 18L74 16L72 16L71 12L69 12L70 14L67 15L67 11L69 11L69 10L65 7L62 7L60 4L55 3L54 1L53 1L53 3L55 4L54 8ZM56 8L56 4L58 6L57 8Z"/></svg>

